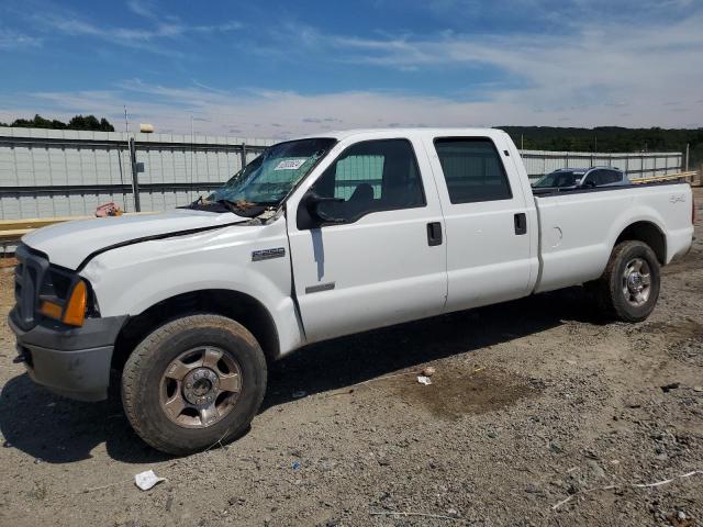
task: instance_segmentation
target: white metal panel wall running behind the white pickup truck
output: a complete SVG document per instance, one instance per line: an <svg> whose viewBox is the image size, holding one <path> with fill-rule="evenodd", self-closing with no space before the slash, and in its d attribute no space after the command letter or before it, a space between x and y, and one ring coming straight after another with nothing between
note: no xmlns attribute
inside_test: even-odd
<svg viewBox="0 0 703 527"><path fill-rule="evenodd" d="M121 132L0 128L0 218L92 215L114 201L133 211L127 142L136 141L142 211L186 204L228 179L271 139ZM196 145L193 147L193 145ZM614 166L632 177L680 170L680 153L590 154L523 150L535 177L563 167Z"/></svg>

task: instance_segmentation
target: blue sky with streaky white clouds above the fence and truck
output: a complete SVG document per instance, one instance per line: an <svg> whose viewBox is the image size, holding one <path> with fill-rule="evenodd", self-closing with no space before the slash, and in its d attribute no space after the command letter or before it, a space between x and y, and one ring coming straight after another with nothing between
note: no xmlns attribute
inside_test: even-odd
<svg viewBox="0 0 703 527"><path fill-rule="evenodd" d="M701 27L702 0L3 0L0 121L698 127Z"/></svg>

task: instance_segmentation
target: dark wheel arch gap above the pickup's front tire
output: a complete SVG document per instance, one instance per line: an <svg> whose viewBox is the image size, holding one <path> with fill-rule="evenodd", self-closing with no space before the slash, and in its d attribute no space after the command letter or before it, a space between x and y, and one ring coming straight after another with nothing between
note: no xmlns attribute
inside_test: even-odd
<svg viewBox="0 0 703 527"><path fill-rule="evenodd" d="M267 361L280 356L275 319L254 296L226 289L203 289L161 300L131 316L115 340L112 368L121 371L134 348L155 328L179 316L211 313L232 318L246 327L261 346Z"/></svg>

